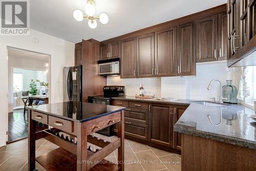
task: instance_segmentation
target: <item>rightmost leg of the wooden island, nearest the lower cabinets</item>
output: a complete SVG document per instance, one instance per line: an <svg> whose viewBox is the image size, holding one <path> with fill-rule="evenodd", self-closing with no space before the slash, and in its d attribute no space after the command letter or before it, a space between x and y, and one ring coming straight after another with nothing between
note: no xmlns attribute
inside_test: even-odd
<svg viewBox="0 0 256 171"><path fill-rule="evenodd" d="M124 111L121 111L121 121L118 122L118 138L121 138L121 146L118 148L118 168L124 170Z"/></svg>

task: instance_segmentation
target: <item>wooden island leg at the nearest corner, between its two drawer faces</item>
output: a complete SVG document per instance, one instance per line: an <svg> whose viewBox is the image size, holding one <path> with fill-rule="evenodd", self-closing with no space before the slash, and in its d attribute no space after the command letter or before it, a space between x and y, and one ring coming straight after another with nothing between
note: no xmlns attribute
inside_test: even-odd
<svg viewBox="0 0 256 171"><path fill-rule="evenodd" d="M82 163L79 163L82 162ZM78 171L87 171L87 128L86 123L77 124L77 166Z"/></svg>

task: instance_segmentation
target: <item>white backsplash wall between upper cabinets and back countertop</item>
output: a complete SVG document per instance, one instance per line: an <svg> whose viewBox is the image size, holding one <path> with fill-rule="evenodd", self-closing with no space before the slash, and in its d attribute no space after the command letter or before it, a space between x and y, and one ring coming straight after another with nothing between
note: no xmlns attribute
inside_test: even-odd
<svg viewBox="0 0 256 171"><path fill-rule="evenodd" d="M227 68L227 61L197 63L197 76L188 77L161 77L161 78L129 78L120 79L120 76L108 76L108 86L125 86L125 95L134 96L139 93L140 83L148 90L152 89L150 95L156 97L173 97L178 99L209 100L220 96L220 86L217 82L212 85L211 90L206 90L211 79L218 78L223 85L227 79L233 80L238 87L241 75L241 67Z"/></svg>

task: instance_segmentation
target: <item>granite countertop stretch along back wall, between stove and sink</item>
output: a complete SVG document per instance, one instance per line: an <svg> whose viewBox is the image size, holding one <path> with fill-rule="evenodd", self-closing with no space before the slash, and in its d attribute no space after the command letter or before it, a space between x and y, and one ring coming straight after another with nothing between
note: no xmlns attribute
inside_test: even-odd
<svg viewBox="0 0 256 171"><path fill-rule="evenodd" d="M136 98L135 96L119 96L119 97L112 97L114 100L130 100L130 101L145 101L145 102L154 102L154 103L165 103L165 104L178 104L178 105L189 105L193 100L183 100L183 99L177 99L177 100L157 100L156 98L152 99L141 99ZM195 101L195 100L194 100Z"/></svg>

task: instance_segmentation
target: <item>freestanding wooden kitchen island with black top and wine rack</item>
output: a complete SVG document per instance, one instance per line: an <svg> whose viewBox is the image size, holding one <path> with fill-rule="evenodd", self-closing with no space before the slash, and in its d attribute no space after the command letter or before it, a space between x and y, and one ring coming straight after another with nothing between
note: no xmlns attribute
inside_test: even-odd
<svg viewBox="0 0 256 171"><path fill-rule="evenodd" d="M47 170L124 170L124 109L84 102L61 102L26 107L29 111L28 169L35 161ZM35 122L51 126L35 132ZM91 134L118 123L118 138L104 141ZM66 136L64 137L63 134ZM35 140L45 138L59 148L35 157ZM93 149L88 142L101 149ZM118 148L118 165L104 158Z"/></svg>

